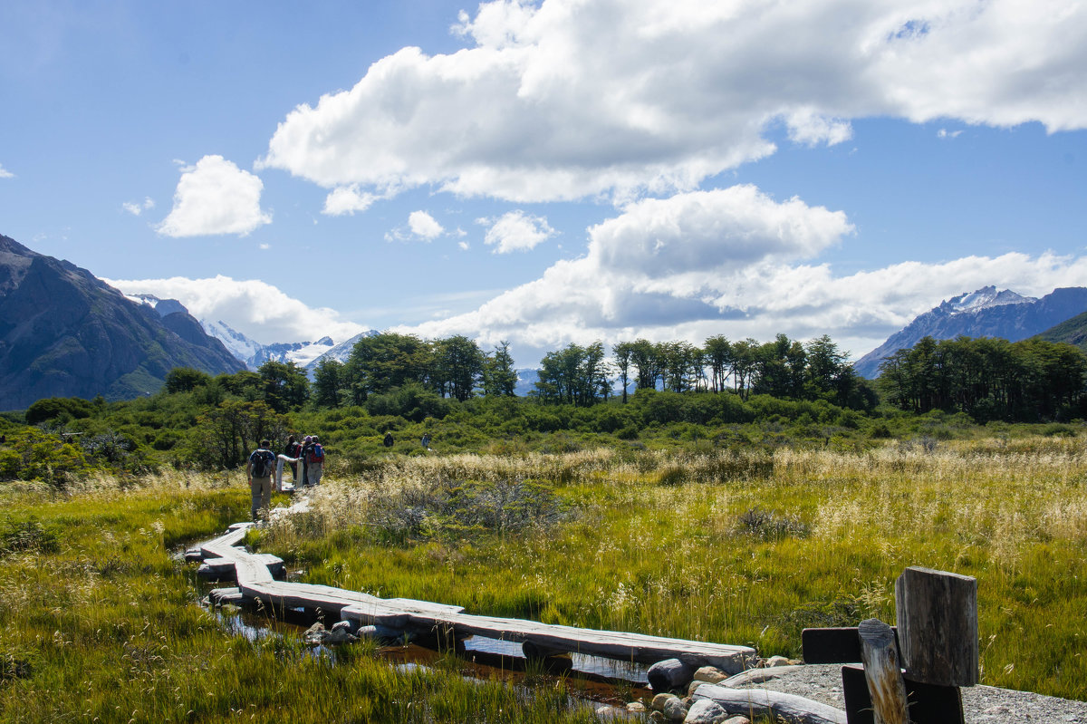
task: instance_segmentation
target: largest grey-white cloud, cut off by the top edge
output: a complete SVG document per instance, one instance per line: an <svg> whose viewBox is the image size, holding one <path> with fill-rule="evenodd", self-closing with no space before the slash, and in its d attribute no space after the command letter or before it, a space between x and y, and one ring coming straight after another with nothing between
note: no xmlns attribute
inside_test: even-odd
<svg viewBox="0 0 1087 724"><path fill-rule="evenodd" d="M779 124L802 146L871 116L1087 127L1087 5L1062 0L496 0L454 32L468 47L404 48L297 107L258 166L354 194L629 200L774 152Z"/></svg>

